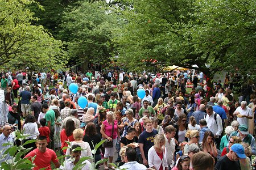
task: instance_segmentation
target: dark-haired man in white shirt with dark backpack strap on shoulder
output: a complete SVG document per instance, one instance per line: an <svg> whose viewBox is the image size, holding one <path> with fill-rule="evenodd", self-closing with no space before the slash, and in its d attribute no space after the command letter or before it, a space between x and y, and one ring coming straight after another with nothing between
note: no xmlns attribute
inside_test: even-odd
<svg viewBox="0 0 256 170"><path fill-rule="evenodd" d="M220 136L223 130L221 117L217 113L213 112L213 108L211 105L207 105L206 111L207 115L204 119L207 121L208 128L213 132L214 138L216 139L217 147L220 147Z"/></svg>

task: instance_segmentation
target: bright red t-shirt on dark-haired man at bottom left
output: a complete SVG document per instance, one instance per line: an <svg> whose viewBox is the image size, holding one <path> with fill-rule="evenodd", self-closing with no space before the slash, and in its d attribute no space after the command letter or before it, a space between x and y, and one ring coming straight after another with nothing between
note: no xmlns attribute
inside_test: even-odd
<svg viewBox="0 0 256 170"><path fill-rule="evenodd" d="M36 165L36 167L33 168L34 170L38 170L41 168L52 169L51 161L53 163L59 161L55 152L49 148L46 148L46 152L40 152L39 149L36 148L35 150L32 150L30 153L28 153L25 158L30 157L29 160L32 161L31 158L35 155L36 158L33 163Z"/></svg>

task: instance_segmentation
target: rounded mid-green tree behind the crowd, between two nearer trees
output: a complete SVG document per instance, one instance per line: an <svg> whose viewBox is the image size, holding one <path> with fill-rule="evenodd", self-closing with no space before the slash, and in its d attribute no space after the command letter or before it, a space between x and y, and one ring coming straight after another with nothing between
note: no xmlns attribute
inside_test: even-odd
<svg viewBox="0 0 256 170"><path fill-rule="evenodd" d="M77 2L64 12L59 38L65 41L68 54L77 63L106 63L112 56L114 14L105 2Z"/></svg>

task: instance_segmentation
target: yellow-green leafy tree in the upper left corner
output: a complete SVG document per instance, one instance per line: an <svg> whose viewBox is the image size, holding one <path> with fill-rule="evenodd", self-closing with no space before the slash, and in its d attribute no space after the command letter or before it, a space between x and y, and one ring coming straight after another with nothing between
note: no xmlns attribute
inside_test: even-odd
<svg viewBox="0 0 256 170"><path fill-rule="evenodd" d="M35 2L0 1L0 66L63 68L67 56L62 42L53 39L42 25L31 24L38 20L27 7L32 3Z"/></svg>

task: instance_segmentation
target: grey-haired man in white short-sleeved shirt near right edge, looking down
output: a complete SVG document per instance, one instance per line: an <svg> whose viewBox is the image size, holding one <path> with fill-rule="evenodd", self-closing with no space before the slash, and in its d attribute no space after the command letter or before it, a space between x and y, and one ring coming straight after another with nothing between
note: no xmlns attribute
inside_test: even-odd
<svg viewBox="0 0 256 170"><path fill-rule="evenodd" d="M246 101L241 102L241 107L238 107L233 115L237 116L240 125L246 125L247 127L249 127L249 119L253 118L253 112L247 107Z"/></svg>

